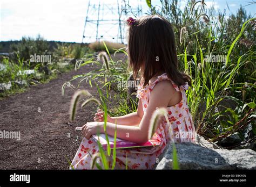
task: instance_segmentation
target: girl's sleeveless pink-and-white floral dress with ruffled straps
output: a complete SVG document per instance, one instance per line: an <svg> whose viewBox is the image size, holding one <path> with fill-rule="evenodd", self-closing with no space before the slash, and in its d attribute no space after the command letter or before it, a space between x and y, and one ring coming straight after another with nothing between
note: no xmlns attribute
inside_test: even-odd
<svg viewBox="0 0 256 187"><path fill-rule="evenodd" d="M194 142L195 129L191 114L188 110L185 92L185 90L188 89L188 85L181 85L179 88L166 74L158 76L154 82L146 87L143 87L143 81L141 81L138 87L137 97L142 100L144 113L149 104L150 92L157 83L163 80L169 80L174 89L180 91L182 94L182 99L178 104L167 107L167 116L171 124L171 129L167 121L163 119L156 133L154 133L150 140L152 143L160 142L159 146L117 149L115 169L125 169L126 159L128 169L154 169L159 162L159 155L164 152L170 139L174 142ZM74 169L91 169L91 155L96 152L99 152L97 142L93 141L91 138L89 140L83 138L71 163L72 167ZM112 164L112 155L110 155L109 164L110 166ZM99 163L99 165L103 166L102 163ZM72 168L70 167L70 169ZM96 167L93 169L96 169Z"/></svg>

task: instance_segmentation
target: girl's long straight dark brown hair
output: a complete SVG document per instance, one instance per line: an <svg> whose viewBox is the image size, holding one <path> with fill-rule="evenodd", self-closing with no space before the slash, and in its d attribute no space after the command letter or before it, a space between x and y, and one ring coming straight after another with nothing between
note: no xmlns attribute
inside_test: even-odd
<svg viewBox="0 0 256 187"><path fill-rule="evenodd" d="M128 30L129 66L137 78L142 70L144 86L159 72L178 86L191 85L190 76L178 70L177 52L171 23L158 15L137 18Z"/></svg>

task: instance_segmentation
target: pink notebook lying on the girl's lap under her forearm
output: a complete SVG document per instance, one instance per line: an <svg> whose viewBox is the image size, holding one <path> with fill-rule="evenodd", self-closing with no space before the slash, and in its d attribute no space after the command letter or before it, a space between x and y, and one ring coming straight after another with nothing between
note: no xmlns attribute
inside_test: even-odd
<svg viewBox="0 0 256 187"><path fill-rule="evenodd" d="M96 142L99 140L104 150L107 149L107 141L105 137L106 137L105 134L100 134L99 136L96 134L92 135L92 139L95 140ZM110 135L108 137L109 137L110 148L112 149L114 147L114 137ZM151 147L151 146L159 146L159 145L160 145L160 142L152 142L150 140L145 143L134 143L134 142L122 140L119 138L116 139L117 149Z"/></svg>

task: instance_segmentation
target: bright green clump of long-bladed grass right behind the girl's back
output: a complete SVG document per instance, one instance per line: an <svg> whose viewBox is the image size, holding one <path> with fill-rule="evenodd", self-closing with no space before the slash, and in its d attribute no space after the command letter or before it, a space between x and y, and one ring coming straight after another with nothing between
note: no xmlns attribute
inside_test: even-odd
<svg viewBox="0 0 256 187"><path fill-rule="evenodd" d="M247 20L243 24L238 37L232 42L232 45L228 49L228 53L225 55L225 62L223 63L209 62L208 59L205 58L206 55L198 40L199 58L197 57L197 52L192 55L187 54L186 48L185 53L181 54L184 56L185 68L192 76L192 87L187 91L187 100L190 104L193 119L198 119L197 131L201 134L209 130L212 134L215 133L212 131L214 127L211 126L211 120L208 119L212 119L211 116L214 116L214 114L215 116L217 115L215 108L218 108L219 103L225 98L223 96L227 94L228 90L233 88L232 81L250 56L250 53L240 55L236 64L234 60L230 59L235 44L237 44L242 32L244 32L251 20L252 19ZM212 35L209 31L207 56L210 56L210 59L214 54L211 49L211 38ZM192 56L190 63L186 60L188 56ZM204 110L200 111L202 105L204 106Z"/></svg>

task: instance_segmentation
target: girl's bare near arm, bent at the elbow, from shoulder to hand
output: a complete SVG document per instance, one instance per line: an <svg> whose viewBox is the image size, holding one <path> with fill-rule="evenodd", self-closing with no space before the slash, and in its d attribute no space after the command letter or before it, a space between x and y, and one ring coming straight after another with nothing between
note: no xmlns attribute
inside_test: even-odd
<svg viewBox="0 0 256 187"><path fill-rule="evenodd" d="M158 108L167 107L175 91L176 90L172 87L169 81L159 82L151 91L150 102L147 106L147 111L146 113L144 113L139 126L127 126L127 125L118 124L117 137L120 139L136 142L136 143L144 143L147 140L149 140L149 137L148 137L149 125L150 125L150 120L153 112L156 110L157 107ZM159 124L160 124L160 121L161 120L159 120ZM98 129L98 127L100 130L100 133L104 133L103 122L99 123L98 127L96 124L93 124L93 123L87 123L86 125L83 126L83 133L87 139L89 139L92 134L97 133L96 129ZM106 127L107 134L114 136L115 128L116 128L116 124L107 123L107 127Z"/></svg>

